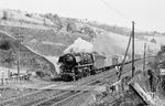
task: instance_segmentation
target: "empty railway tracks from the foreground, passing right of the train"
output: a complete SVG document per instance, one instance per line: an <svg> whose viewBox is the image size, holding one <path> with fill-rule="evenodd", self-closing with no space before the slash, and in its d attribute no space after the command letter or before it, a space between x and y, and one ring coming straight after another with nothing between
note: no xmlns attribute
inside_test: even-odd
<svg viewBox="0 0 165 106"><path fill-rule="evenodd" d="M139 62L136 62L136 63L139 63ZM124 70L129 70L130 66L131 65L128 64L124 67ZM124 72L124 73L127 73L127 72ZM103 75L103 73L106 73L106 74ZM68 103L70 99L73 99L74 97L90 91L90 88L85 89L85 87L81 87L80 85L94 85L94 84L98 85L98 84L100 84L98 81L100 81L105 77L116 77L114 70L107 71L103 73L100 73L102 75L90 76L90 77L92 77L91 80L87 78L87 81L84 81L84 82L79 81L78 82L79 91L69 91L69 92L68 91L37 91L34 93L30 93L28 95L8 99L3 103L0 103L0 106L7 106L7 105L8 106L63 106L64 104ZM77 82L75 82L75 84ZM81 91L81 89L84 89L84 91Z"/></svg>

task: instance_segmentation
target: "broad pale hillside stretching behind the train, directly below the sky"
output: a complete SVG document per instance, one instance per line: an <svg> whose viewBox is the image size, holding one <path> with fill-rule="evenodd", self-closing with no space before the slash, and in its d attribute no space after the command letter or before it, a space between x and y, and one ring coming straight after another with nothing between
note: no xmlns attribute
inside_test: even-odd
<svg viewBox="0 0 165 106"><path fill-rule="evenodd" d="M12 38L22 36L22 46L29 46L29 51L41 54L45 60L47 57L51 62L44 63L47 65L56 65L57 57L63 55L64 50L79 38L90 42L94 51L107 57L114 54L124 55L131 33L128 28L61 18L52 13L36 14L19 10L0 10L0 30L9 33ZM160 39L161 35L155 32L138 31L135 33L135 54L143 54L144 43L147 43L147 52L156 53L160 50L158 43L163 42ZM150 38L156 38L156 42L151 42Z"/></svg>

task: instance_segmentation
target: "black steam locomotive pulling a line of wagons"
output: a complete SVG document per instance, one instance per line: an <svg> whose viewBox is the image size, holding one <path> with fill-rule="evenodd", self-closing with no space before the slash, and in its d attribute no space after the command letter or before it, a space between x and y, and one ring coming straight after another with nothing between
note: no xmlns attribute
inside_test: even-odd
<svg viewBox="0 0 165 106"><path fill-rule="evenodd" d="M77 81L121 65L117 56L112 61L112 65L106 66L106 57L98 53L67 53L58 59L59 76L64 81Z"/></svg>

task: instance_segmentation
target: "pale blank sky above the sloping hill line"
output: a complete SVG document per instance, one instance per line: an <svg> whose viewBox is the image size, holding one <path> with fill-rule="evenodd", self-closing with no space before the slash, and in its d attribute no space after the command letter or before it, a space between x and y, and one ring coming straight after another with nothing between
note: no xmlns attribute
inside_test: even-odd
<svg viewBox="0 0 165 106"><path fill-rule="evenodd" d="M105 3L107 2L107 3ZM88 19L106 24L165 32L165 0L0 0L0 9Z"/></svg>

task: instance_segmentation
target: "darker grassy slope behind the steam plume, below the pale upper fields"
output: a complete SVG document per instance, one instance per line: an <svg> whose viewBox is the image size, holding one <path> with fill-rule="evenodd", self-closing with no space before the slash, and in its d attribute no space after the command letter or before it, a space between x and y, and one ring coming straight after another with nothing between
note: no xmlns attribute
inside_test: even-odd
<svg viewBox="0 0 165 106"><path fill-rule="evenodd" d="M0 25L0 30L9 32L13 36L22 35L25 45L43 55L61 55L63 50L72 44L77 38L84 38L87 41L90 39L80 33L63 33L53 30L36 30L4 25Z"/></svg>

